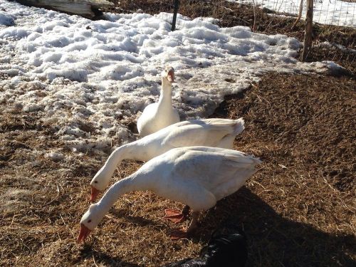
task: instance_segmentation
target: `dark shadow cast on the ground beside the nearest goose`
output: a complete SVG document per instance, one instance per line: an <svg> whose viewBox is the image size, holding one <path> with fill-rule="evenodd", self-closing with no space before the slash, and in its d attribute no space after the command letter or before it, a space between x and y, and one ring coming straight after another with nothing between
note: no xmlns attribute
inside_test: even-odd
<svg viewBox="0 0 356 267"><path fill-rule="evenodd" d="M348 255L355 244L352 235L335 236L283 218L246 187L208 211L194 238L207 241L211 231L231 225L246 233L248 266L355 266Z"/></svg>

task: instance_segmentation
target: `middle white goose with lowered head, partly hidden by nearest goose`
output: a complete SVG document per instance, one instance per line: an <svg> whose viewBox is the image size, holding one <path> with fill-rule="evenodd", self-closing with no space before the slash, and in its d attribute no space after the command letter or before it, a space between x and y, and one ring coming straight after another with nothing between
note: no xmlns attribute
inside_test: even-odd
<svg viewBox="0 0 356 267"><path fill-rule="evenodd" d="M165 127L152 135L118 147L90 182L90 201L108 187L117 164L123 159L147 161L176 147L206 146L232 149L236 135L244 130L244 120L187 120Z"/></svg>

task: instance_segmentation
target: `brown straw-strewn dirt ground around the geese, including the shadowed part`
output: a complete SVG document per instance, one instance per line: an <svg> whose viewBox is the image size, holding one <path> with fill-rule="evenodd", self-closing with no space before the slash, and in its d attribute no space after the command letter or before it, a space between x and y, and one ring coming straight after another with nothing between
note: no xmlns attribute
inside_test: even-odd
<svg viewBox="0 0 356 267"><path fill-rule="evenodd" d="M125 194L84 246L75 244L79 220L108 153L74 153L40 112L0 103L0 266L162 266L197 256L212 231L231 224L246 233L248 266L355 266L355 90L350 75L263 76L211 116L246 121L235 148L263 160L246 187L181 241L169 239L175 226L161 217L182 204ZM65 157L43 156L51 148ZM140 165L123 162L115 179Z"/></svg>

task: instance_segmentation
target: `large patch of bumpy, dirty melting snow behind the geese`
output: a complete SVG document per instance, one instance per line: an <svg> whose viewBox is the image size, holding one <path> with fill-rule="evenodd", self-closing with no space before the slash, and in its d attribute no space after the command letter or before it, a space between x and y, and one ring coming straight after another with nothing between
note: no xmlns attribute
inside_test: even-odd
<svg viewBox="0 0 356 267"><path fill-rule="evenodd" d="M0 10L14 19L0 25L4 111L36 112L78 153L133 140L127 125L159 98L167 64L175 68L172 102L182 120L211 115L225 95L263 73L331 66L298 62L295 38L219 28L214 19L179 15L172 32L172 14L106 14L107 21L90 21L4 0ZM46 157L59 160L58 153Z"/></svg>

